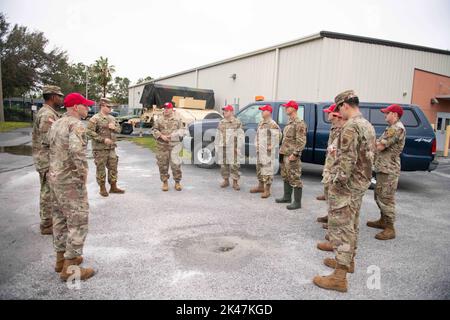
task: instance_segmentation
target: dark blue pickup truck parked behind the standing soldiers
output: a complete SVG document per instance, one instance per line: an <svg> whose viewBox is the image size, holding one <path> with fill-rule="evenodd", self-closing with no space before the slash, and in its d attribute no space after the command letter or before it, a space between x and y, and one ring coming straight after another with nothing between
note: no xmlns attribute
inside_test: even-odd
<svg viewBox="0 0 450 320"><path fill-rule="evenodd" d="M284 101L257 101L240 110L236 117L241 120L245 135L245 153L247 161L255 154L254 138L256 128L261 120L261 105L270 104L273 108L272 117L281 130L288 121ZM308 127L307 143L302 153L302 162L323 165L325 162L328 135L331 123L328 122L323 109L331 102L311 103L298 101L298 116L306 122ZM363 116L375 128L379 137L387 124L384 114L380 111L389 103L360 103ZM438 162L436 155L436 136L422 110L416 105L403 104L404 114L401 118L406 128L406 143L401 155L401 169L403 171L432 171ZM183 146L192 155L192 162L202 168L215 166L214 138L220 119L196 121L188 126L189 135L183 139ZM255 162L248 162L255 163Z"/></svg>

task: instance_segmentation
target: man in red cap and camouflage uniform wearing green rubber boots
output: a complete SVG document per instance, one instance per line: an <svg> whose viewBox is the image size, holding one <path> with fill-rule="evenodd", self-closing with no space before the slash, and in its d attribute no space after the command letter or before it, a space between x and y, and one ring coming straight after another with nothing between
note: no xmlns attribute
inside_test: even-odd
<svg viewBox="0 0 450 320"><path fill-rule="evenodd" d="M294 200L287 206L288 210L302 207L302 152L306 145L306 124L297 115L298 104L289 101L282 105L286 108L289 121L283 130L283 140L280 147L281 177L284 182L284 195L276 199L277 203L289 203L294 190Z"/></svg>

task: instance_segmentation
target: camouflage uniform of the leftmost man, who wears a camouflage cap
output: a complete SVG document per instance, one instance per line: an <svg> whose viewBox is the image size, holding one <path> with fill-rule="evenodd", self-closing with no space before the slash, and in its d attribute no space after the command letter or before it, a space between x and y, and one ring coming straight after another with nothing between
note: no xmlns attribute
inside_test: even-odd
<svg viewBox="0 0 450 320"><path fill-rule="evenodd" d="M50 146L48 132L52 124L60 118L60 115L50 106L44 106L38 111L33 125L33 160L36 171L39 172L41 183L40 210L41 229L52 225L52 202L48 183L48 168L50 166Z"/></svg>

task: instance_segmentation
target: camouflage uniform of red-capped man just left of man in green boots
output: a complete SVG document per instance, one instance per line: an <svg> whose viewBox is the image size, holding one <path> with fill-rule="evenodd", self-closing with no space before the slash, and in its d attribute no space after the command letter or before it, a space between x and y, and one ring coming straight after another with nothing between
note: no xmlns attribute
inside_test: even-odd
<svg viewBox="0 0 450 320"><path fill-rule="evenodd" d="M260 183L272 184L276 149L280 144L280 138L280 127L274 120L262 119L259 122L256 131L256 175Z"/></svg>

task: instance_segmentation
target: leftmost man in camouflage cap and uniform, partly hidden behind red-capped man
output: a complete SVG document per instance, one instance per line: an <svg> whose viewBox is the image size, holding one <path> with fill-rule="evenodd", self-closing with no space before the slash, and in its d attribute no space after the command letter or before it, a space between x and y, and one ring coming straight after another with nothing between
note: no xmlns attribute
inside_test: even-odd
<svg viewBox="0 0 450 320"><path fill-rule="evenodd" d="M51 235L52 229L52 202L48 183L48 168L50 166L50 146L48 143L48 132L52 124L60 118L56 111L63 106L64 94L57 86L43 87L44 106L38 111L33 124L33 161L36 171L39 173L41 183L40 210L41 234Z"/></svg>

